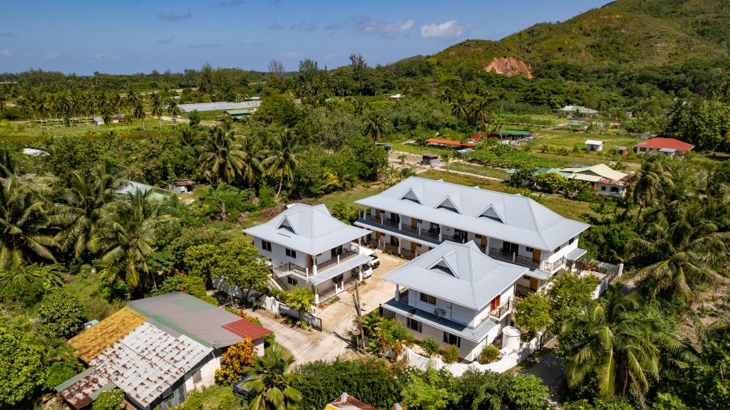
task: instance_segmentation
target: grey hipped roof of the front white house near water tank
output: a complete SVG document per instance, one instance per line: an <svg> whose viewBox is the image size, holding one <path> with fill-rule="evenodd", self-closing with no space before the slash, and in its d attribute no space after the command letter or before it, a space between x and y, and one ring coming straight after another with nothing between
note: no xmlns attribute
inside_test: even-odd
<svg viewBox="0 0 730 410"><path fill-rule="evenodd" d="M488 257L473 241L445 241L383 275L383 279L480 310L527 271Z"/></svg>

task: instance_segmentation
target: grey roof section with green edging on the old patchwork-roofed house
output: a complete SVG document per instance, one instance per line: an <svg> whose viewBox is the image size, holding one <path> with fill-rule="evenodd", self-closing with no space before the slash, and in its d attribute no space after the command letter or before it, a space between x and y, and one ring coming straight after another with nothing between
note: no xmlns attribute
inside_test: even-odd
<svg viewBox="0 0 730 410"><path fill-rule="evenodd" d="M208 347L226 347L242 336L223 328L241 318L183 292L171 292L131 301L131 309L144 314L153 325L173 335L184 334Z"/></svg>

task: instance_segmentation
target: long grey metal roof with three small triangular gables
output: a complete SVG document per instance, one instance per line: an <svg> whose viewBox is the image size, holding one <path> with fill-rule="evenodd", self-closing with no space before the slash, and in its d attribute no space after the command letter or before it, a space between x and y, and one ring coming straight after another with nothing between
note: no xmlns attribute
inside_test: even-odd
<svg viewBox="0 0 730 410"><path fill-rule="evenodd" d="M519 194L466 187L440 179L410 177L355 203L548 251L590 227L561 217ZM439 208L443 204L451 209ZM498 216L502 221L485 214Z"/></svg>

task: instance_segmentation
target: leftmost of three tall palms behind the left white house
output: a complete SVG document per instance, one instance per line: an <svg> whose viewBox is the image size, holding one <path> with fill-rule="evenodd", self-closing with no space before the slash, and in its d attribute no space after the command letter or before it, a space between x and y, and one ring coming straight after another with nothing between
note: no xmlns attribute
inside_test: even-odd
<svg viewBox="0 0 730 410"><path fill-rule="evenodd" d="M205 168L205 178L210 182L233 182L245 166L246 153L233 135L223 128L213 128L200 154L201 166Z"/></svg>

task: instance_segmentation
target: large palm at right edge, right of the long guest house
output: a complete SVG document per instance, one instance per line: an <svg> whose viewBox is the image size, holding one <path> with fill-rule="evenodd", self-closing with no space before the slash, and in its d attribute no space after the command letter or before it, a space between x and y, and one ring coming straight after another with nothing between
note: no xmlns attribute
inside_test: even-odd
<svg viewBox="0 0 730 410"><path fill-rule="evenodd" d="M672 223L666 223L664 213L672 214ZM699 204L675 201L656 218L658 221L648 226L648 235L628 244L633 258L649 263L633 276L642 281L652 279L649 287L653 296L665 293L670 301L680 298L693 303L696 299L692 296L702 287L730 282L724 274L730 233L705 218Z"/></svg>

